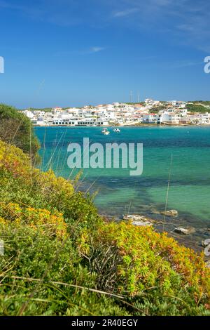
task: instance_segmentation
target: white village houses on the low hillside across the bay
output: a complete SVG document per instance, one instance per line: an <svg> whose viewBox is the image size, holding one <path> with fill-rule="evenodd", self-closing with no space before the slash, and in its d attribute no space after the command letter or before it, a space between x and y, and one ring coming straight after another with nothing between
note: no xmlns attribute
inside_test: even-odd
<svg viewBox="0 0 210 330"><path fill-rule="evenodd" d="M140 126L210 125L210 103L157 101L113 103L84 107L27 109L24 112L35 126Z"/></svg>

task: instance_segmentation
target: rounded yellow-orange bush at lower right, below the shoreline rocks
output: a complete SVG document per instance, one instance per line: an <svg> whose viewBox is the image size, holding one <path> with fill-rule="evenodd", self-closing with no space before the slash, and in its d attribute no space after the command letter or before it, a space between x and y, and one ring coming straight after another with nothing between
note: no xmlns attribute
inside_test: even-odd
<svg viewBox="0 0 210 330"><path fill-rule="evenodd" d="M151 227L110 223L84 232L79 249L97 288L120 293L137 315L210 315L210 270L203 256ZM135 310L133 310L135 314Z"/></svg>

